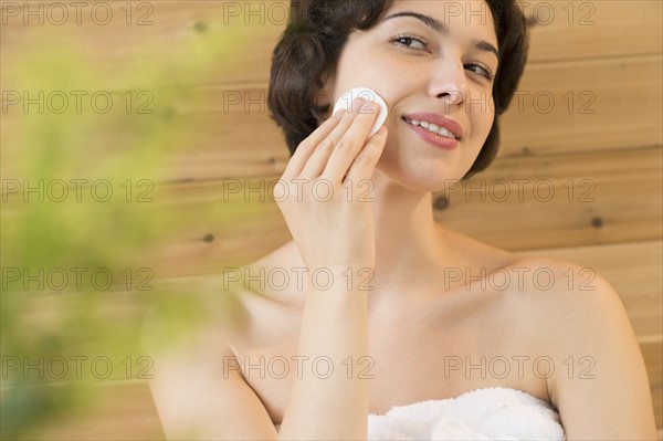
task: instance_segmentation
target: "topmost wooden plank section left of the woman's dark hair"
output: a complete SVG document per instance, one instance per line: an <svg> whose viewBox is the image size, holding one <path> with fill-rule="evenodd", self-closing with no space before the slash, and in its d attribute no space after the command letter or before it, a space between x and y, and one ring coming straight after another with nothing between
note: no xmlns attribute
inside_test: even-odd
<svg viewBox="0 0 663 441"><path fill-rule="evenodd" d="M146 84L264 81L273 50L269 42L283 32L288 2L261 1L246 7L246 2L232 0L136 0L76 7L40 1L29 7L32 14L25 13L25 4L29 2L2 2L3 88L19 80L20 73L10 69L17 63L38 66L55 50L77 50L88 62L80 90L126 91ZM193 54L202 45L228 51L210 59L207 72L187 70L193 67ZM156 75L148 77L137 69Z"/></svg>

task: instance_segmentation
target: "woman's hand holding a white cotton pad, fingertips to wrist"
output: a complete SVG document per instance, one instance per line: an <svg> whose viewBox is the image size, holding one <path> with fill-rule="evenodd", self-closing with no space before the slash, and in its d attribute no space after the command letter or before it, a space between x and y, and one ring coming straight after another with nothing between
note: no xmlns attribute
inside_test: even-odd
<svg viewBox="0 0 663 441"><path fill-rule="evenodd" d="M367 136L379 112L355 101L304 139L274 198L311 270L375 267L372 181L387 128ZM285 195L287 192L287 195Z"/></svg>

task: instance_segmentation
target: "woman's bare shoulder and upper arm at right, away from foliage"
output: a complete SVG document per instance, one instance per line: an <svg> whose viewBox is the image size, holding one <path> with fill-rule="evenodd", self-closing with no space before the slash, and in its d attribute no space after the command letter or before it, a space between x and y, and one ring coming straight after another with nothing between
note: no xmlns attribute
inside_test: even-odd
<svg viewBox="0 0 663 441"><path fill-rule="evenodd" d="M514 265L532 275L520 298L551 363L548 391L567 439L655 440L646 367L615 290L572 262L523 256Z"/></svg>

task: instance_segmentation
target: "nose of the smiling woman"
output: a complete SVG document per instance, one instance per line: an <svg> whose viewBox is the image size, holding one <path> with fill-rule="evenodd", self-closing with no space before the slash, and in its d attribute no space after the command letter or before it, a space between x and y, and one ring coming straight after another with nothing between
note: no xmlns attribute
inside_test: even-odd
<svg viewBox="0 0 663 441"><path fill-rule="evenodd" d="M444 101L445 106L460 106L469 93L463 63L450 57L433 63L428 92L430 96Z"/></svg>

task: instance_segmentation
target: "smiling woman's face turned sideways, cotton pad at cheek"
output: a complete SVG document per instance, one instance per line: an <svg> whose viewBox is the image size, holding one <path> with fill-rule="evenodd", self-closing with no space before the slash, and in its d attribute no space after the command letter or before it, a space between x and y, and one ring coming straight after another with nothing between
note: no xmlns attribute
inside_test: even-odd
<svg viewBox="0 0 663 441"><path fill-rule="evenodd" d="M393 17L406 12L420 18ZM325 95L336 102L362 86L382 96L389 137L378 169L408 188L439 191L467 172L493 124L493 80L486 75L497 72L490 48L498 48L492 15L484 1L396 0L382 17L349 35ZM455 148L425 140L421 126L406 122L421 113L457 123Z"/></svg>

